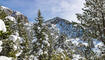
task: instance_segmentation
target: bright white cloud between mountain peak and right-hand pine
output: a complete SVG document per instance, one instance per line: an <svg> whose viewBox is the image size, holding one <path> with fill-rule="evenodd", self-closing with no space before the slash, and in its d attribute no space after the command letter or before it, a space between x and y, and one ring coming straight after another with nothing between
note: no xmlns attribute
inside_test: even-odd
<svg viewBox="0 0 105 60"><path fill-rule="evenodd" d="M82 12L83 2L84 0L62 0L57 6L52 7L52 12L65 19L77 22L75 14Z"/></svg>

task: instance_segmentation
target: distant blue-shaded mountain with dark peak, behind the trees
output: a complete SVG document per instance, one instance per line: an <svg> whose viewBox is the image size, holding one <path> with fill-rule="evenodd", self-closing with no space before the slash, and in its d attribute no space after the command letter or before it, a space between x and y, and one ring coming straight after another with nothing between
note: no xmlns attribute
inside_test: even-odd
<svg viewBox="0 0 105 60"><path fill-rule="evenodd" d="M68 20L60 17L55 17L45 22L49 27L56 25L60 34L65 34L69 38L81 37L83 34L82 28L75 22L69 22Z"/></svg>

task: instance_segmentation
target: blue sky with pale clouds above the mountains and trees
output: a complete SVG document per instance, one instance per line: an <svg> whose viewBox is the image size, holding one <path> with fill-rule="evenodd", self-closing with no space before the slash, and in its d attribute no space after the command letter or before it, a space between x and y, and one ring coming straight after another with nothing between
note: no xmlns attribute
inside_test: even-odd
<svg viewBox="0 0 105 60"><path fill-rule="evenodd" d="M40 9L45 20L61 17L75 21L76 13L82 13L84 0L0 0L0 5L19 11L33 22Z"/></svg>

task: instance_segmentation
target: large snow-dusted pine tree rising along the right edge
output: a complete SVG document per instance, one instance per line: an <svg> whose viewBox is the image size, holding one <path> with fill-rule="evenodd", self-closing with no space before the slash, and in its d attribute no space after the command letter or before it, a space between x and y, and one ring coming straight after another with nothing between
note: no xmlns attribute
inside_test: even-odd
<svg viewBox="0 0 105 60"><path fill-rule="evenodd" d="M102 40L105 44L105 0L85 0L83 14L77 14L84 31L84 38Z"/></svg>

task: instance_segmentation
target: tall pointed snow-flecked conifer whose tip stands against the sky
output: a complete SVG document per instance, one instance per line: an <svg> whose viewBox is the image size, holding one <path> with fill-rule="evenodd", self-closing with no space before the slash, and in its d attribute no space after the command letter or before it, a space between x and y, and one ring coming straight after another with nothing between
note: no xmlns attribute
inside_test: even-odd
<svg viewBox="0 0 105 60"><path fill-rule="evenodd" d="M41 16L40 10L38 11L38 17L35 19L36 23L34 23L34 31L36 40L33 42L33 51L35 56L38 56L39 60L47 60L48 59L48 48L49 44L49 36L48 29L44 25L43 17Z"/></svg>

